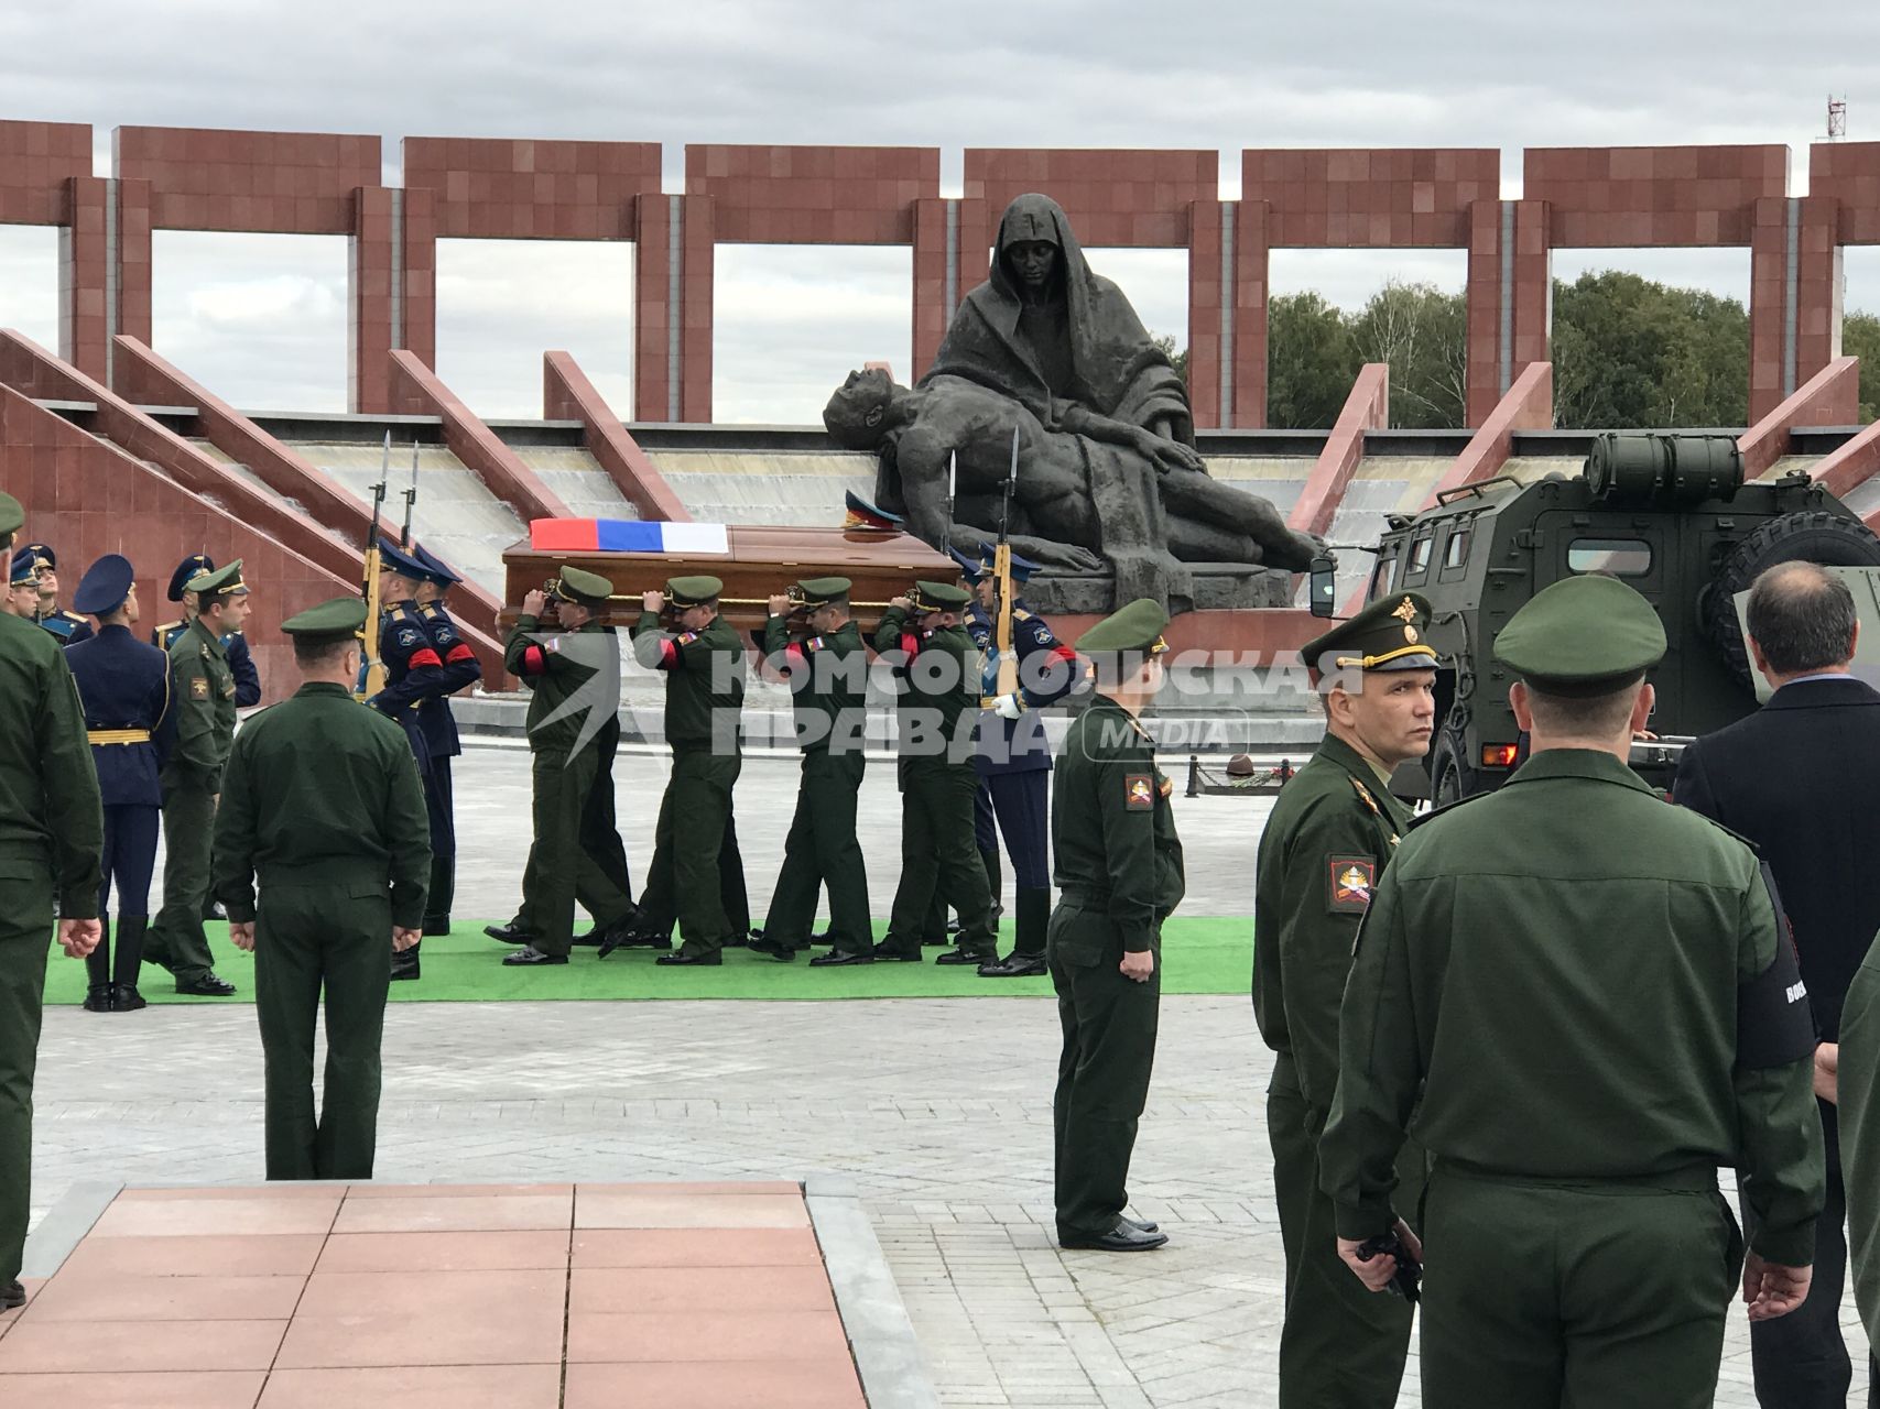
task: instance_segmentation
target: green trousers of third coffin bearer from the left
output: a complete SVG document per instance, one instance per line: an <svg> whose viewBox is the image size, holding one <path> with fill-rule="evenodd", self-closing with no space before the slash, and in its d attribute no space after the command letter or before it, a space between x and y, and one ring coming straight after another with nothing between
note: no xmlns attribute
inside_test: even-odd
<svg viewBox="0 0 1880 1409"><path fill-rule="evenodd" d="M807 949L816 921L816 892L829 887L829 943L850 954L874 947L869 917L869 868L855 840L855 795L867 759L859 751L803 755L797 812L784 838L784 866L771 892L763 937Z"/></svg>

